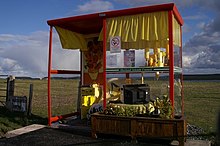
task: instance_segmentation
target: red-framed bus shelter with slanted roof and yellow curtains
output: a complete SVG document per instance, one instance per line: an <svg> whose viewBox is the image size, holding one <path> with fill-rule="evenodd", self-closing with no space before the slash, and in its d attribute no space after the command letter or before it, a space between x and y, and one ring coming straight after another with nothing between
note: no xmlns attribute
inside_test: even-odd
<svg viewBox="0 0 220 146"><path fill-rule="evenodd" d="M167 85L166 92L161 96L165 95L170 101L171 114L169 115L169 120L174 119L175 116L183 117L181 28L183 19L175 4L169 3L79 15L48 20L47 23L50 26L48 57L49 125L69 116L52 116L51 114L50 78L52 74L80 74L81 86L94 84L101 86L103 109L108 106L108 74L113 74L113 76L115 74L125 75L126 84L132 84L129 80L132 78L132 74L142 75L140 84L146 81L146 79L145 81L143 79L144 73L148 73L150 77L155 75L157 79L159 75L164 74L167 76ZM80 50L80 70L52 69L52 35L54 28L59 35L63 49ZM143 50L144 65L142 66L137 66L135 63L132 64L132 57L130 56L136 50ZM109 64L109 60L107 60L109 54L106 52L110 52L110 56L120 52L124 52L124 54L130 53L131 55L127 55L129 56L128 58L125 55L124 62L126 63L117 66L114 57L110 58L113 62ZM136 56L136 58L138 57ZM139 86L139 84L135 86ZM125 86L123 87L125 88ZM161 88L159 85L158 87ZM144 87L144 93L146 88ZM131 92L134 93L134 91ZM141 94L141 92L138 94ZM152 96L152 94L149 96ZM137 101L129 101L130 104L132 102ZM80 112L82 111L77 111L70 115L78 115L81 114ZM97 119L95 120L97 122ZM183 124L185 124L185 121ZM185 133L185 125L181 126L183 129L181 132ZM96 128L93 127L93 129Z"/></svg>

